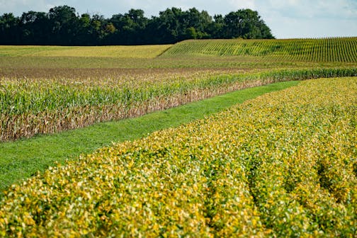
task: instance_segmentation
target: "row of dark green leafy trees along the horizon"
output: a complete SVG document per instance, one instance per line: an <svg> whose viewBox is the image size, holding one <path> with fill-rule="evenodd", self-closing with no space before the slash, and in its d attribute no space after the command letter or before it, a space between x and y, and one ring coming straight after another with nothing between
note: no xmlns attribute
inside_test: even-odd
<svg viewBox="0 0 357 238"><path fill-rule="evenodd" d="M240 9L225 16L210 16L191 8L167 8L147 18L144 11L104 18L79 16L70 6L56 6L48 13L28 11L22 16L0 16L0 45L149 45L172 44L188 39L273 38L257 11Z"/></svg>

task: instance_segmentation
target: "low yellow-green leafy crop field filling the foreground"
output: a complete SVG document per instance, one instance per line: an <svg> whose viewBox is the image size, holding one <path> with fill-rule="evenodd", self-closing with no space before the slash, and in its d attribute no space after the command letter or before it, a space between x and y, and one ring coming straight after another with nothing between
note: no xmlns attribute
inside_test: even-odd
<svg viewBox="0 0 357 238"><path fill-rule="evenodd" d="M13 185L8 237L355 237L357 78L303 81Z"/></svg>

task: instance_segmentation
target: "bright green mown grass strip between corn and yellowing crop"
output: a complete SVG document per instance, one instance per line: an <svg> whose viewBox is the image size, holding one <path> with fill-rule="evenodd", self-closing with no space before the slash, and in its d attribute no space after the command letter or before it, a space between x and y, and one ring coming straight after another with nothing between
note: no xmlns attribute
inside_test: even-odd
<svg viewBox="0 0 357 238"><path fill-rule="evenodd" d="M87 128L55 135L40 135L16 142L1 143L0 191L12 183L28 178L36 171L44 171L54 162L63 163L66 159L76 159L81 153L94 152L100 147L111 145L112 142L139 139L157 130L173 128L204 118L206 115L217 113L234 104L271 91L295 86L297 83L297 81L289 81L234 91L139 118L98 123Z"/></svg>

